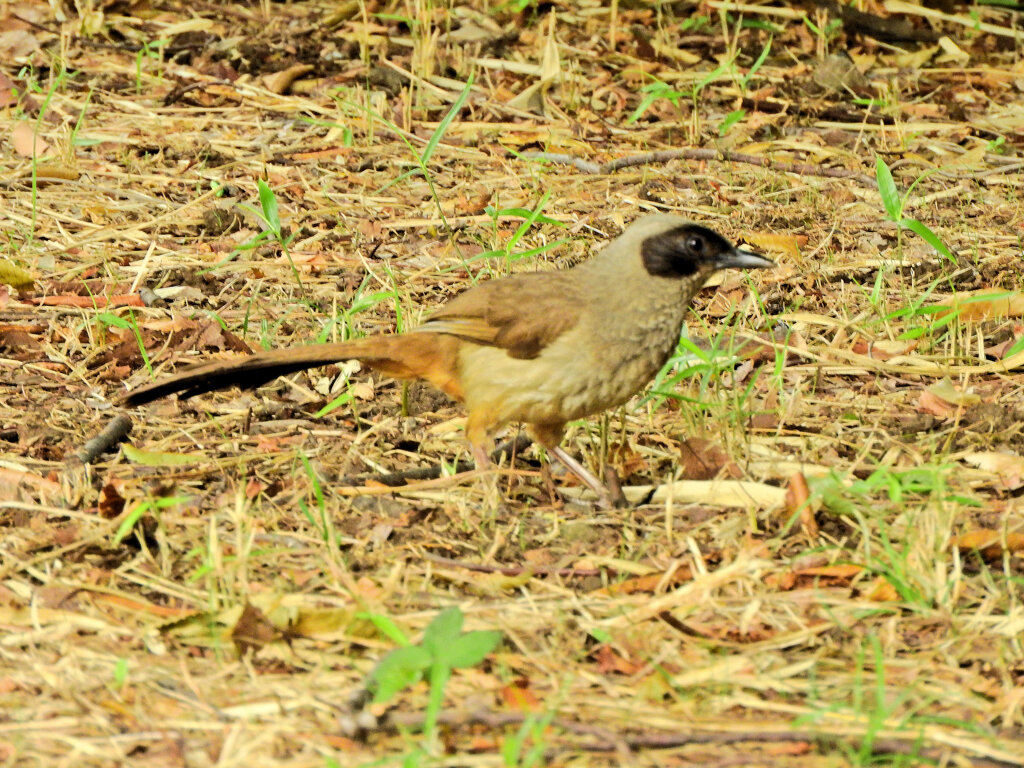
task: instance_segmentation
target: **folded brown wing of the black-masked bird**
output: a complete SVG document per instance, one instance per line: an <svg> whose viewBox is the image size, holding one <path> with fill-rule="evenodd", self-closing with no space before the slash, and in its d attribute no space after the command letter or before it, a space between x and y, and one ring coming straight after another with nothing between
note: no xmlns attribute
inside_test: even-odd
<svg viewBox="0 0 1024 768"><path fill-rule="evenodd" d="M482 283L456 296L422 326L532 359L580 319L585 302L568 272L540 272Z"/></svg>

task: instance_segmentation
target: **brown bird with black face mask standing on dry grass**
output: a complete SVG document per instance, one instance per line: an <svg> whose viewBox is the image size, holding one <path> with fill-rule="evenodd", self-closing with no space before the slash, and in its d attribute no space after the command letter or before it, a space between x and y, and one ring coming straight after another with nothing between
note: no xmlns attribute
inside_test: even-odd
<svg viewBox="0 0 1024 768"><path fill-rule="evenodd" d="M716 271L774 266L675 214L634 221L568 269L517 273L458 294L421 326L335 343L217 359L127 392L138 406L190 397L356 359L385 376L425 380L467 412L478 468L514 422L609 506L608 489L561 446L567 423L626 402L676 350L694 295Z"/></svg>

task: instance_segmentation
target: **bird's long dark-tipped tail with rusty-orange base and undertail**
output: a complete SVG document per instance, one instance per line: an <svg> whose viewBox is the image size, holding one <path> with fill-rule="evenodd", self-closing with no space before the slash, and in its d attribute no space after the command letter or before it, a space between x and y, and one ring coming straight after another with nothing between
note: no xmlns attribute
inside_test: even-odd
<svg viewBox="0 0 1024 768"><path fill-rule="evenodd" d="M182 397L238 386L253 389L279 376L357 359L398 379L425 379L462 399L458 367L459 341L443 334L414 333L369 336L335 344L311 344L256 352L248 357L213 360L128 392L123 402L140 406L173 392Z"/></svg>

